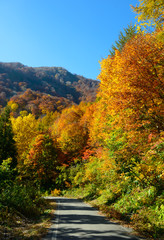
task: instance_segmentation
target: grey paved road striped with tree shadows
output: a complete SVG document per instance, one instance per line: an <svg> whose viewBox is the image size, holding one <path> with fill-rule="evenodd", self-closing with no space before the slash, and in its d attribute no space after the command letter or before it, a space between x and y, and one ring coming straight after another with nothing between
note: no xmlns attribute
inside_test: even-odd
<svg viewBox="0 0 164 240"><path fill-rule="evenodd" d="M52 198L57 210L43 240L136 240L130 230L112 223L78 199Z"/></svg>

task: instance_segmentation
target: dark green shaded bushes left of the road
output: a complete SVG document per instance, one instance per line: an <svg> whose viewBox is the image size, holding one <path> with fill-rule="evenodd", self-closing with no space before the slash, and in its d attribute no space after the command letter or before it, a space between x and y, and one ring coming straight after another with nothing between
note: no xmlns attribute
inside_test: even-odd
<svg viewBox="0 0 164 240"><path fill-rule="evenodd" d="M15 170L10 168L10 162L7 159L0 165L0 221L10 218L13 212L35 218L42 212L44 199L36 186L20 183L13 177Z"/></svg>

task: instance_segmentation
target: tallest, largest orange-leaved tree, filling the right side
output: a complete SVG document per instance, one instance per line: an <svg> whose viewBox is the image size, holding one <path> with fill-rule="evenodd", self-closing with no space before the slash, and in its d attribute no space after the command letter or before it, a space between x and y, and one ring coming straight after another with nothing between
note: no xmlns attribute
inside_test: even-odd
<svg viewBox="0 0 164 240"><path fill-rule="evenodd" d="M141 162L149 172L151 146L164 129L162 63L163 45L155 34L136 35L122 52L101 62L89 136L92 145L109 149L106 163L115 159L118 172L136 177L135 166ZM161 159L156 158L160 171Z"/></svg>

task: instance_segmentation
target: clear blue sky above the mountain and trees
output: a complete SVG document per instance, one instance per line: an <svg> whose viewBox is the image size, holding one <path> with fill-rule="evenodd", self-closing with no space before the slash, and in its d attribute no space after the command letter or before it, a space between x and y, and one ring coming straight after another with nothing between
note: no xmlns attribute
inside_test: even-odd
<svg viewBox="0 0 164 240"><path fill-rule="evenodd" d="M138 0L0 0L0 61L96 79Z"/></svg>

